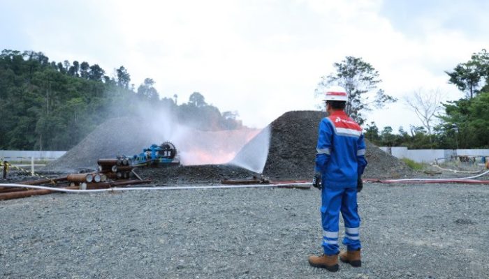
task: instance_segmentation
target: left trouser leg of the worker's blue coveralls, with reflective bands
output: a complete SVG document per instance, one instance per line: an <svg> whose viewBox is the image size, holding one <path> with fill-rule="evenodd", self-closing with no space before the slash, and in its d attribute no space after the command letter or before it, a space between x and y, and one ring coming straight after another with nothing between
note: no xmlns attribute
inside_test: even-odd
<svg viewBox="0 0 489 279"><path fill-rule="evenodd" d="M340 246L338 246L338 230L343 192L344 189L331 189L326 187L321 192L322 246L326 255L336 255L340 251Z"/></svg>

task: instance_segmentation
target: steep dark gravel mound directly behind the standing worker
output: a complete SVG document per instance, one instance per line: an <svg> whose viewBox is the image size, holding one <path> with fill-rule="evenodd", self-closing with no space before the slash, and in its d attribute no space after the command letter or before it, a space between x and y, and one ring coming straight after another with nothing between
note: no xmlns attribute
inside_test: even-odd
<svg viewBox="0 0 489 279"><path fill-rule="evenodd" d="M319 122L326 114L318 111L286 112L275 119L270 128L270 149L263 175L277 179L310 179L314 175L314 160ZM258 142L262 142L258 134ZM368 161L365 178L399 178L414 172L401 160L366 141ZM251 140L236 156L252 157L256 143ZM241 159L243 160L243 159Z"/></svg>

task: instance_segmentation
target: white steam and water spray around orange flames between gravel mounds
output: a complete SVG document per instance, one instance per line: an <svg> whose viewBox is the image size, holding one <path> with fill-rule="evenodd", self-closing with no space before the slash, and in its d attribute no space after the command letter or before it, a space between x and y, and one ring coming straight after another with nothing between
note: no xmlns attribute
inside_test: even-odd
<svg viewBox="0 0 489 279"><path fill-rule="evenodd" d="M145 144L172 142L182 165L231 164L263 172L270 145L269 128L196 130L178 124L177 117L168 110L142 104L137 107L143 126L139 133L145 134ZM142 145L141 150L146 147Z"/></svg>

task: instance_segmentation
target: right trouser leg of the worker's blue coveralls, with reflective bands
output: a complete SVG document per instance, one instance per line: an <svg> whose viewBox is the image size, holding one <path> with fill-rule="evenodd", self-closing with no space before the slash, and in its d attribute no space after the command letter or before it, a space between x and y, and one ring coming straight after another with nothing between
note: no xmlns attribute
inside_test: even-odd
<svg viewBox="0 0 489 279"><path fill-rule="evenodd" d="M358 250L360 245L360 216L356 202L356 188L346 188L342 198L342 216L345 233L343 244L348 250Z"/></svg>

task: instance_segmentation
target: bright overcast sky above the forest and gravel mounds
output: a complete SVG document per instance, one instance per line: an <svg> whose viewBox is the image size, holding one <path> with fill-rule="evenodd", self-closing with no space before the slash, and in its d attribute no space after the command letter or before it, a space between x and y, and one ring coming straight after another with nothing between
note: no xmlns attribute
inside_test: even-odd
<svg viewBox="0 0 489 279"><path fill-rule="evenodd" d="M289 110L314 110L333 63L362 57L379 87L400 99L367 114L379 127L420 125L402 96L440 89L463 96L444 70L489 45L489 1L0 0L0 48L54 61L98 63L131 83L151 77L179 103L199 91L221 112L261 128Z"/></svg>

